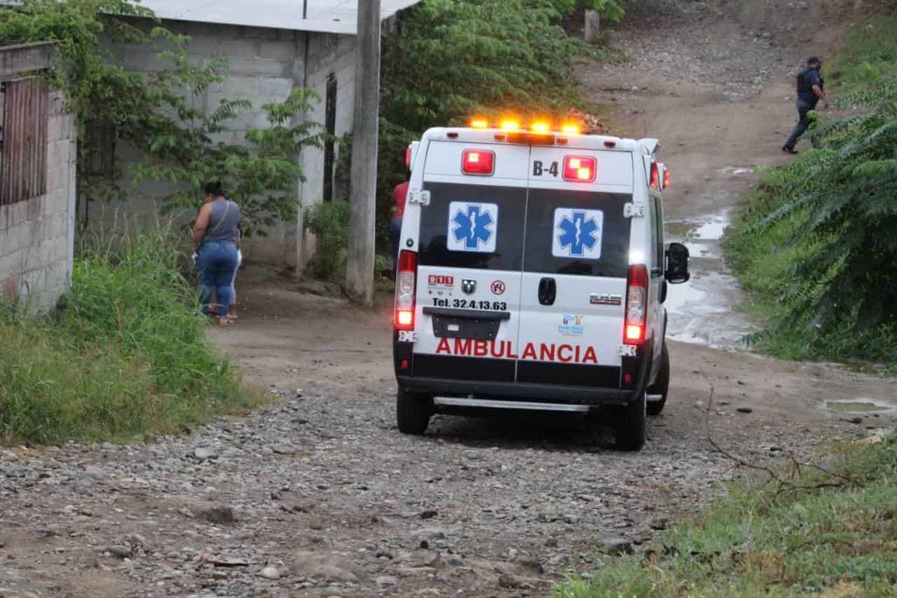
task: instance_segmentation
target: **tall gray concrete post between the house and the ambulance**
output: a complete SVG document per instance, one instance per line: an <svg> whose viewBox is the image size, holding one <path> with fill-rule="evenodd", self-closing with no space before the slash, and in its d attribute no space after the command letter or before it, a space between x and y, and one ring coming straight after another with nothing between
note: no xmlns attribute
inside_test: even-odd
<svg viewBox="0 0 897 598"><path fill-rule="evenodd" d="M358 0L358 57L352 142L352 195L345 291L356 303L374 299L374 218L380 109L380 0Z"/></svg>

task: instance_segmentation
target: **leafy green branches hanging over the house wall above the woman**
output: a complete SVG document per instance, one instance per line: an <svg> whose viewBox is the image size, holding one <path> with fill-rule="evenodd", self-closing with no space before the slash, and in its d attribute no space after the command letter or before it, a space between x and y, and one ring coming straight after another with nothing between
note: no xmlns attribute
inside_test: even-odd
<svg viewBox="0 0 897 598"><path fill-rule="evenodd" d="M147 21L122 18L134 16ZM202 104L195 101L197 94L227 76L227 60L215 57L192 66L185 51L189 39L144 26L151 22L152 12L126 0L22 0L0 7L0 44L57 42L61 59L50 76L65 89L78 127L79 199L125 200L123 181L168 180L176 190L161 198L162 206L196 208L205 182L223 180L242 207L248 236L292 220L304 179L295 156L324 138L319 125L295 117L317 96L294 92L262 106L270 128L225 143L229 124L252 110L249 102L224 99L208 114L194 106ZM127 45L156 48L166 67L150 74L127 72L109 49ZM148 148L135 169L98 171L95 156L109 132L120 144Z"/></svg>

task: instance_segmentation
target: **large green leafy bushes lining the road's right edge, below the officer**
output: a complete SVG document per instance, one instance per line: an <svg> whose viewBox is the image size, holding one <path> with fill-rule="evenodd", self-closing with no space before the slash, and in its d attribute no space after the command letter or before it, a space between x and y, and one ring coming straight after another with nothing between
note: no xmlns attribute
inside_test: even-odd
<svg viewBox="0 0 897 598"><path fill-rule="evenodd" d="M843 56L897 56L897 40L866 40ZM875 64L886 74L864 87L843 79L852 113L818 116L814 148L765 174L728 242L777 356L897 364L897 62Z"/></svg>

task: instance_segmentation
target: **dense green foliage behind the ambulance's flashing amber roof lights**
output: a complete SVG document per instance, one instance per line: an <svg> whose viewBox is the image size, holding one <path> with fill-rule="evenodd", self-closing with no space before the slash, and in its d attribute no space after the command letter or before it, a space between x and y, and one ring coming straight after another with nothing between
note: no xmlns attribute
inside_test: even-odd
<svg viewBox="0 0 897 598"><path fill-rule="evenodd" d="M405 147L424 130L460 125L475 114L562 118L579 105L574 58L596 50L561 26L577 5L576 0L428 0L401 13L398 31L385 34L382 44L380 251L388 249L392 189L406 177ZM614 0L585 5L608 18L622 15ZM347 173L351 153L342 154L340 170Z"/></svg>

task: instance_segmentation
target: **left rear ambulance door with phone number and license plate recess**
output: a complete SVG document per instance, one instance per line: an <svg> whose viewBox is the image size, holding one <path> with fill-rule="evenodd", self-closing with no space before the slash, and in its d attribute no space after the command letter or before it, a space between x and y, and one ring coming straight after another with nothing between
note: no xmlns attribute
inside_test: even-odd
<svg viewBox="0 0 897 598"><path fill-rule="evenodd" d="M528 158L526 145L430 142L415 377L514 381Z"/></svg>

